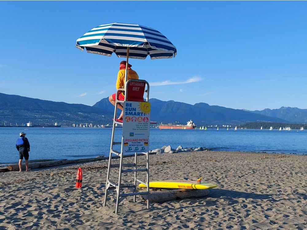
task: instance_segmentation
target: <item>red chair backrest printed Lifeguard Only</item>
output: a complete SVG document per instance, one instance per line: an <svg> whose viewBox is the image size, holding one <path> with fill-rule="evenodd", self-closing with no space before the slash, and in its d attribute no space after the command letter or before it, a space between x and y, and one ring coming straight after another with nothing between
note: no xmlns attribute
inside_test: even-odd
<svg viewBox="0 0 307 230"><path fill-rule="evenodd" d="M144 90L146 83L138 80L130 79L127 83L127 101L143 102L144 101Z"/></svg>

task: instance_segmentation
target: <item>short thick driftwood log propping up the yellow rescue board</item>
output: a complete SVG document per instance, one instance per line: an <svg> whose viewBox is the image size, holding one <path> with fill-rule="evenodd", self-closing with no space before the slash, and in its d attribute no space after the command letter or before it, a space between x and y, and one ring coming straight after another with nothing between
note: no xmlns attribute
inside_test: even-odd
<svg viewBox="0 0 307 230"><path fill-rule="evenodd" d="M142 189L142 191L145 191ZM152 190L150 189L149 202L161 203L166 201L181 200L184 198L205 197L209 195L209 189L176 189L176 190ZM147 200L147 195L141 195Z"/></svg>

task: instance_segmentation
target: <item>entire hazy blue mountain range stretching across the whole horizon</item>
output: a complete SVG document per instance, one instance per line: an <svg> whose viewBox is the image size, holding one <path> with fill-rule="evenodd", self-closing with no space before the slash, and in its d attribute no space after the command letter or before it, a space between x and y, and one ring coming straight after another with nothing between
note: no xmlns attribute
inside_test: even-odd
<svg viewBox="0 0 307 230"><path fill-rule="evenodd" d="M242 124L246 122L307 122L307 109L281 107L248 111L231 109L207 103L190 105L183 102L150 99L152 121L158 123L186 124L192 119L196 125ZM52 102L18 95L0 93L0 124L21 125L31 121L35 125L53 125L57 122L63 126L73 123L93 125L111 124L114 106L108 98L103 98L93 106Z"/></svg>

